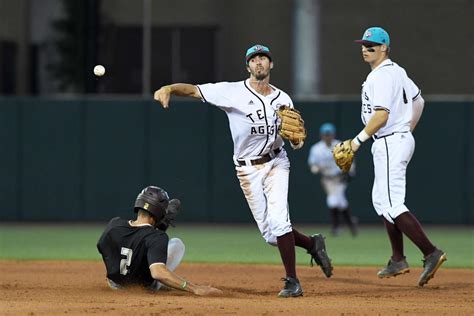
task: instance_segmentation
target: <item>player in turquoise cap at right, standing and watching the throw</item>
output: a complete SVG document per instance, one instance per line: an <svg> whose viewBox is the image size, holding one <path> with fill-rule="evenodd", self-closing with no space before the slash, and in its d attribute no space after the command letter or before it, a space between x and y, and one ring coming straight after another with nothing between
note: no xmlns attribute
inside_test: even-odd
<svg viewBox="0 0 474 316"><path fill-rule="evenodd" d="M356 42L362 44L362 57L372 69L362 84L361 118L365 128L337 147L348 146L355 152L363 142L374 139L372 202L383 217L392 246L392 256L378 276L388 278L409 271L403 252L405 234L424 255L424 269L418 281L423 286L446 261L446 253L431 243L405 206L406 170L415 150L412 132L421 117L424 100L405 69L390 60L390 38L384 29L371 27Z"/></svg>

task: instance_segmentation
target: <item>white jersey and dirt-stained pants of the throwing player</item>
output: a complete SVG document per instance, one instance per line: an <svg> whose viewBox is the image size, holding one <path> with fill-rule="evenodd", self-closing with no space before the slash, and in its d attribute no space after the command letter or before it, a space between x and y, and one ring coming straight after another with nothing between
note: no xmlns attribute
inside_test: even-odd
<svg viewBox="0 0 474 316"><path fill-rule="evenodd" d="M290 161L278 134L276 110L281 105L293 107L293 102L274 86L270 95L259 94L249 79L197 87L204 102L227 114L240 187L263 238L276 245L277 237L292 231L288 212Z"/></svg>

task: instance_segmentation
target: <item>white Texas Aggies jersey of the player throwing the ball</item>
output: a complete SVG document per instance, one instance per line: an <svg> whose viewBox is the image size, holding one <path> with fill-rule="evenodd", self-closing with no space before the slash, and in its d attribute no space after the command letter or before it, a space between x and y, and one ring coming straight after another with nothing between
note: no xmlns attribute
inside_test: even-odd
<svg viewBox="0 0 474 316"><path fill-rule="evenodd" d="M226 112L234 142L234 161L259 158L283 146L277 132L279 119L275 110L281 105L293 107L288 94L271 86L273 92L262 96L250 86L249 79L197 87L203 101Z"/></svg>

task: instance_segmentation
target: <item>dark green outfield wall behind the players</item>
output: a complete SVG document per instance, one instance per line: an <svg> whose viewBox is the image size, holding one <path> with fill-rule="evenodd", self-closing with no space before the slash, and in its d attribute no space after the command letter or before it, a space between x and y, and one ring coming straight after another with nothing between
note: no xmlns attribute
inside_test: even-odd
<svg viewBox="0 0 474 316"><path fill-rule="evenodd" d="M291 160L295 223L326 223L319 177L307 155L321 123L341 139L362 128L354 101L297 102L308 128ZM474 223L474 101L427 101L407 179L407 205L425 223ZM348 195L361 222L371 206L370 143L357 154ZM199 102L168 110L136 99L0 99L0 219L96 221L128 216L139 190L154 184L183 202L183 221L249 222L235 177L227 117ZM287 146L289 147L289 146Z"/></svg>

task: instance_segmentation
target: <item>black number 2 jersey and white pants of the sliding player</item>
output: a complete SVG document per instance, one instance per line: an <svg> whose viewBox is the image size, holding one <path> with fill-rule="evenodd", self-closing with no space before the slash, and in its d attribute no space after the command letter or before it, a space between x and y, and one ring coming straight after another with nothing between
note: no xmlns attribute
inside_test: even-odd
<svg viewBox="0 0 474 316"><path fill-rule="evenodd" d="M152 225L132 226L130 220L110 220L97 243L112 288L131 284L156 286L150 267L166 264L176 269L184 256L184 244Z"/></svg>

